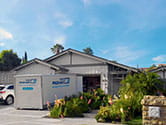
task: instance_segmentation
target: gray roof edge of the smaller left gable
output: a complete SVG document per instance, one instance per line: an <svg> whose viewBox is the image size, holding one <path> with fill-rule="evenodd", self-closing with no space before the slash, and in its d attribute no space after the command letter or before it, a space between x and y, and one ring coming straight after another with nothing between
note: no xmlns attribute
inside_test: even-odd
<svg viewBox="0 0 166 125"><path fill-rule="evenodd" d="M22 69L22 68L24 68L24 67L26 67L26 66L28 66L28 65L30 65L32 63L39 63L41 65L48 66L48 67L50 67L51 69L54 69L54 70L68 71L68 69L66 69L66 68L64 68L62 66L58 66L58 65L54 65L54 64L49 64L49 63L44 62L44 61L42 61L42 60L40 60L38 58L32 59L32 60L28 61L27 63L22 64L22 65L20 65L20 66L18 66L16 68L14 68L13 70L14 71L20 70L20 69Z"/></svg>

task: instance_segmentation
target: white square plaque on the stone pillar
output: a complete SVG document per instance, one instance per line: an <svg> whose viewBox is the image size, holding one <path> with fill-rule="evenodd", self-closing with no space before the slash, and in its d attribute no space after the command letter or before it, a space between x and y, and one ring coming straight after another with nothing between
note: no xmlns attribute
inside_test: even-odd
<svg viewBox="0 0 166 125"><path fill-rule="evenodd" d="M160 118L160 107L150 106L148 114L149 114L149 117Z"/></svg>

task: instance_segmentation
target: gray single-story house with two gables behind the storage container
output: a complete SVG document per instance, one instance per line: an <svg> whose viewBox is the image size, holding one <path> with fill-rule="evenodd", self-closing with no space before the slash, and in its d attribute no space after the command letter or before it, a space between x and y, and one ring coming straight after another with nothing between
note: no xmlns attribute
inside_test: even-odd
<svg viewBox="0 0 166 125"><path fill-rule="evenodd" d="M15 75L73 73L82 76L83 91L101 88L117 94L120 81L138 70L115 61L67 49L45 60L33 59L13 69Z"/></svg>

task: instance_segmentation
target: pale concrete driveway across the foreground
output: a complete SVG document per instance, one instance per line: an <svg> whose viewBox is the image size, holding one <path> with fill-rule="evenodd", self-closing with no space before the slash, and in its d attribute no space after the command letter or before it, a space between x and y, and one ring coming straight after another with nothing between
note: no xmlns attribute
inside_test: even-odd
<svg viewBox="0 0 166 125"><path fill-rule="evenodd" d="M87 114L86 118L44 118L48 111L16 110L13 106L0 104L0 124L3 125L111 125L110 123L97 123L94 114Z"/></svg>

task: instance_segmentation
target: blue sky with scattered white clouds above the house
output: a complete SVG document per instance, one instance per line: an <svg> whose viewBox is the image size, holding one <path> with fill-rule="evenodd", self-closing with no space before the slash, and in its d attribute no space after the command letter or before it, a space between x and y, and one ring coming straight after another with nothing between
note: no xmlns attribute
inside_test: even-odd
<svg viewBox="0 0 166 125"><path fill-rule="evenodd" d="M166 63L166 0L0 0L0 51L45 59L56 43L134 67Z"/></svg>

